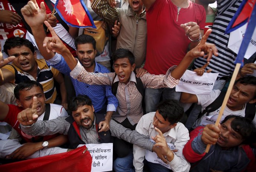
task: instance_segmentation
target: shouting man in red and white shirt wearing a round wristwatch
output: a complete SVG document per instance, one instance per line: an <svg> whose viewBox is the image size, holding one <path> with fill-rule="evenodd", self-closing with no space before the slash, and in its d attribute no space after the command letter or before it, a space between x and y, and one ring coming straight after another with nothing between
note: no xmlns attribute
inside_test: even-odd
<svg viewBox="0 0 256 172"><path fill-rule="evenodd" d="M66 149L54 148L65 144L68 141L66 136L46 135L43 138L40 136L28 136L20 130L19 122L17 121L18 113L23 111L23 109L31 108L32 104L35 107L39 120L67 117L68 113L66 110L60 105L45 104L46 98L43 93L43 87L36 81L19 83L14 88L14 95L17 99L17 105L9 105L0 101L0 120L10 124L19 133L25 144L20 144L17 139L0 139L0 157L25 159L66 152ZM37 97L37 101L33 102L33 97Z"/></svg>

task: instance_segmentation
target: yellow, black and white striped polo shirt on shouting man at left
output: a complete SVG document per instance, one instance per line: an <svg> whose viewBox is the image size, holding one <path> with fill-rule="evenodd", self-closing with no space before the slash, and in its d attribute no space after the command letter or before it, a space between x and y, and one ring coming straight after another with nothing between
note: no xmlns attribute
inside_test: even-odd
<svg viewBox="0 0 256 172"><path fill-rule="evenodd" d="M27 80L39 82L43 86L43 92L46 98L45 103L53 103L57 96L53 78L57 77L57 75L59 74L59 71L56 70L55 68L52 68L51 66L48 66L44 59L40 59L40 60L36 59L36 63L37 63L36 80L32 75L20 70L15 65L9 64L4 66L3 68L11 71L15 75L14 80L10 81L13 84L19 84L20 82L27 81Z"/></svg>

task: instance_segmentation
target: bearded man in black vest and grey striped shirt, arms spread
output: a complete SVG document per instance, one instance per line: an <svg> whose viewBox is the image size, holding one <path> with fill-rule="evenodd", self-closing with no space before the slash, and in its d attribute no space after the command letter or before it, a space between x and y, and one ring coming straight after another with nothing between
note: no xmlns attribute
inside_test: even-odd
<svg viewBox="0 0 256 172"><path fill-rule="evenodd" d="M70 148L76 148L79 144L100 144L111 142L111 136L144 147L152 151L153 144L148 138L137 131L131 131L114 120L110 120L110 131L98 132L98 124L104 120L104 115L94 113L92 101L86 95L79 95L70 101L70 117L59 117L50 121L37 121L37 98L33 97L32 108L20 112L17 119L22 131L29 135L49 135L61 133L68 135Z"/></svg>

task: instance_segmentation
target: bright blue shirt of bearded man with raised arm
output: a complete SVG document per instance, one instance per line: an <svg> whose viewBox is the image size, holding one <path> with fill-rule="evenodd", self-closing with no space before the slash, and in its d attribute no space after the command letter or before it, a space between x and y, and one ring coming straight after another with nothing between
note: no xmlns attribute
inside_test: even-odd
<svg viewBox="0 0 256 172"><path fill-rule="evenodd" d="M53 68L70 77L71 70L62 55L56 53L53 58L47 60L47 63L50 63ZM109 71L106 67L95 62L94 72L108 73ZM95 112L104 111L104 109L106 109L106 111L116 111L116 108L118 106L118 100L112 94L111 86L89 85L84 82L79 82L72 77L70 78L74 85L76 95L88 95L88 97L92 100Z"/></svg>

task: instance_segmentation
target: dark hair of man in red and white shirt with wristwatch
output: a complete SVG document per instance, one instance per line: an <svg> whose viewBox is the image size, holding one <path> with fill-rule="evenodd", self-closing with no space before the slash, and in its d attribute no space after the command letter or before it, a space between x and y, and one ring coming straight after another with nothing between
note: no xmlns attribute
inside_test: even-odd
<svg viewBox="0 0 256 172"><path fill-rule="evenodd" d="M16 87L14 88L14 96L16 97L17 100L20 100L20 91L28 91L33 87L40 87L41 90L43 91L43 86L36 81L28 80L24 82L20 82Z"/></svg>

